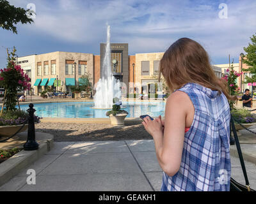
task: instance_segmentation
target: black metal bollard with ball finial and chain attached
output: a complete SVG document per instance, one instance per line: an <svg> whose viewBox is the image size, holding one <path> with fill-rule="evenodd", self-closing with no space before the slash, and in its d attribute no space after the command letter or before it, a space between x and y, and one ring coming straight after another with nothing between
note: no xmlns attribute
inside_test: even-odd
<svg viewBox="0 0 256 204"><path fill-rule="evenodd" d="M33 104L29 104L29 108L27 110L29 117L28 117L28 140L24 143L24 150L36 150L38 149L38 143L35 140L35 120L34 120L34 112L36 111L33 108Z"/></svg>

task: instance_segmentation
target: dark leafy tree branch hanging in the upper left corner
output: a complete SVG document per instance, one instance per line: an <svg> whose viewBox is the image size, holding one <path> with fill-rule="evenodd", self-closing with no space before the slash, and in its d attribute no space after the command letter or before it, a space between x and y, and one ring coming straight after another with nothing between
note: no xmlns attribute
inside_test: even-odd
<svg viewBox="0 0 256 204"><path fill-rule="evenodd" d="M0 27L4 30L13 31L17 34L16 24L21 22L22 24L31 24L34 22L29 15L35 13L32 10L24 10L24 8L16 8L9 4L6 0L0 0ZM15 24L15 25L14 25Z"/></svg>

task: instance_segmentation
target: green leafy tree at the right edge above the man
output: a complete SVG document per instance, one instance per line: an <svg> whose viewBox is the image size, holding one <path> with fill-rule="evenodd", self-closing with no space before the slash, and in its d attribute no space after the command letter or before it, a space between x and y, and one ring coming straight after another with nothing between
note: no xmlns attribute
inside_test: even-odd
<svg viewBox="0 0 256 204"><path fill-rule="evenodd" d="M249 43L248 47L244 47L246 52L243 58L243 63L248 65L248 69L242 69L242 71L250 71L252 77L245 77L244 84L256 82L256 36L253 35L250 38L252 43Z"/></svg>

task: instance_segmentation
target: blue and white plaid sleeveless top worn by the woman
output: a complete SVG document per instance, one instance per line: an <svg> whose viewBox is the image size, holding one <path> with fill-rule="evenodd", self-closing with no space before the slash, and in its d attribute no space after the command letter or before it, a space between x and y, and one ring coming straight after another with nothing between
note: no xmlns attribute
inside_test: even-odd
<svg viewBox="0 0 256 204"><path fill-rule="evenodd" d="M230 191L230 109L226 96L195 83L177 89L195 107L179 171L163 172L161 191Z"/></svg>

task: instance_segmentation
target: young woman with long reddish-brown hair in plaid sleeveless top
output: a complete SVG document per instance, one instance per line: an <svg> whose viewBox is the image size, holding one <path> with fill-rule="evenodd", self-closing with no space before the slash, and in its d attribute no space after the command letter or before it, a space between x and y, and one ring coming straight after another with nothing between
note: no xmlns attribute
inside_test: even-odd
<svg viewBox="0 0 256 204"><path fill-rule="evenodd" d="M204 48L194 40L175 41L160 61L172 93L164 121L146 117L163 169L161 191L230 190L230 106L227 82L217 78ZM226 84L225 84L226 83Z"/></svg>

